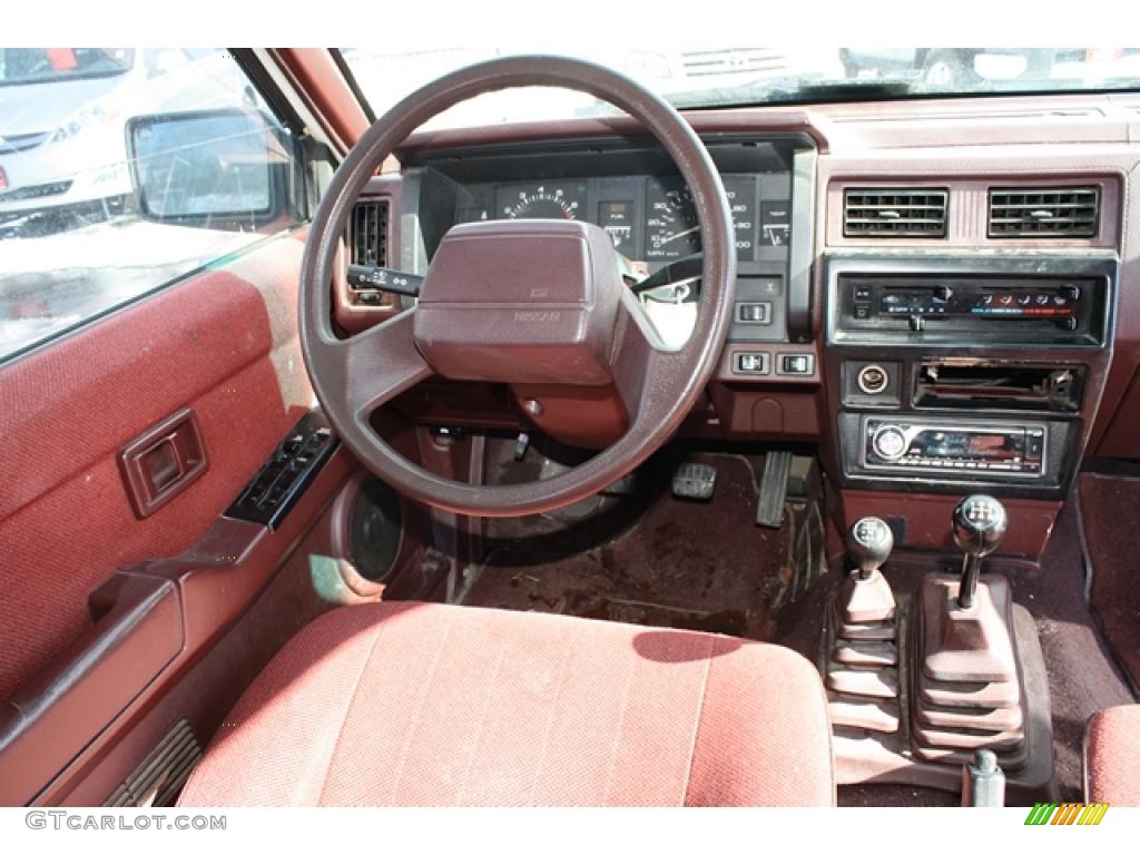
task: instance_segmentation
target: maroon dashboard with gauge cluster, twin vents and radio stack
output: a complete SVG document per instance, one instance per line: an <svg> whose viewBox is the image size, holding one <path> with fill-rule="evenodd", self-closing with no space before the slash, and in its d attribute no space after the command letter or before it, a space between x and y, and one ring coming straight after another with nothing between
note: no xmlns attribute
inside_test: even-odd
<svg viewBox="0 0 1140 855"><path fill-rule="evenodd" d="M877 494L1057 500L1098 445L1140 456L1127 425L1140 288L1123 226L1140 155L1126 129L1108 139L1026 105L694 116L728 194L738 279L685 433L817 445L853 513ZM398 186L393 261L422 274L451 226L523 218L595 223L644 274L699 252L687 188L636 130L414 139L399 176L374 186ZM1077 150L1089 133L1100 148ZM1044 221L1051 206L1083 219ZM1032 234L1010 225L1019 209L1037 218Z"/></svg>

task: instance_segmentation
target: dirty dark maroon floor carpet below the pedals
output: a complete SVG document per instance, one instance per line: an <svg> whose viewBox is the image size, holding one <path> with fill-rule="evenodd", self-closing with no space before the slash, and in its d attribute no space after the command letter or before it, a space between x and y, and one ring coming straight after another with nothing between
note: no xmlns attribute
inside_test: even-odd
<svg viewBox="0 0 1140 855"><path fill-rule="evenodd" d="M791 545L805 539L797 524L812 510L789 513L780 530L758 528L762 457L687 459L717 467L710 502L674 498L671 470L658 466L635 495L578 524L494 521L463 602L767 640L792 581Z"/></svg>

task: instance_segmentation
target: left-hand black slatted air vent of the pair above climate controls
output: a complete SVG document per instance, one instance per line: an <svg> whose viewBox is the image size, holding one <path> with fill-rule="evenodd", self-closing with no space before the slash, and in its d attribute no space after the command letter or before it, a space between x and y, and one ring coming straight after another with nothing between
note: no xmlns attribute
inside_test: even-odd
<svg viewBox="0 0 1140 855"><path fill-rule="evenodd" d="M946 189L848 187L844 237L945 237Z"/></svg>

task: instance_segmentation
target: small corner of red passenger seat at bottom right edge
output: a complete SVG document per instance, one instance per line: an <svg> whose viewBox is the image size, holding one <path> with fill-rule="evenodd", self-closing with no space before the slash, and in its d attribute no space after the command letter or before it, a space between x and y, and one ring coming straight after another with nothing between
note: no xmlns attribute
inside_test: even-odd
<svg viewBox="0 0 1140 855"><path fill-rule="evenodd" d="M1140 705L1110 707L1089 722L1084 734L1086 801L1140 807Z"/></svg>

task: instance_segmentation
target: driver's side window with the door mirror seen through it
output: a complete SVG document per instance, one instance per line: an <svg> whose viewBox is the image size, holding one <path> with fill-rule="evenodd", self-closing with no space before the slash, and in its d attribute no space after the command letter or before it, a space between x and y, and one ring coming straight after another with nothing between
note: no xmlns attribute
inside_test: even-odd
<svg viewBox="0 0 1140 855"><path fill-rule="evenodd" d="M0 48L0 361L296 222L222 49Z"/></svg>

